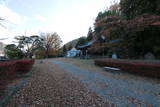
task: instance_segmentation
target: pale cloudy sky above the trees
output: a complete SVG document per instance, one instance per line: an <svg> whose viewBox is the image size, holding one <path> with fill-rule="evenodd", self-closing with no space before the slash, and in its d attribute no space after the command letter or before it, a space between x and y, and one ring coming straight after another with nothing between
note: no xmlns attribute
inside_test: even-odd
<svg viewBox="0 0 160 107"><path fill-rule="evenodd" d="M97 14L115 0L0 0L0 42L18 35L57 32L63 44L86 36ZM7 38L5 40L1 40Z"/></svg>

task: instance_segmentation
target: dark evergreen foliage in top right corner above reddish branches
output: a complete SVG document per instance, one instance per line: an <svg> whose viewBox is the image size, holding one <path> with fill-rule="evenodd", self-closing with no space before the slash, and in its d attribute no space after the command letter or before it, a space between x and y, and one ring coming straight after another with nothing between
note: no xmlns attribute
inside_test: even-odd
<svg viewBox="0 0 160 107"><path fill-rule="evenodd" d="M160 15L159 0L121 0L121 11L131 19L144 13Z"/></svg>

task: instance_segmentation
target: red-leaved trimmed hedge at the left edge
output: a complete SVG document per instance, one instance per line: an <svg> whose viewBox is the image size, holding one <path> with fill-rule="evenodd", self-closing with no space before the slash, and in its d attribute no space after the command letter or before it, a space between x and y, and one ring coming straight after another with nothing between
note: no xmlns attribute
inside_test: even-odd
<svg viewBox="0 0 160 107"><path fill-rule="evenodd" d="M16 78L16 72L28 72L33 64L34 60L32 59L0 62L0 97L4 93L7 84Z"/></svg>

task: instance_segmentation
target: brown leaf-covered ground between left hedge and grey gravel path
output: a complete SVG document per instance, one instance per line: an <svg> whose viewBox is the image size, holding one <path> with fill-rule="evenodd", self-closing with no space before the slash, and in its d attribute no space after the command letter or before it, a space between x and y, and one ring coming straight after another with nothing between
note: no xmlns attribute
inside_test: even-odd
<svg viewBox="0 0 160 107"><path fill-rule="evenodd" d="M38 61L39 62L39 61ZM7 107L112 107L86 85L55 64L36 62L28 82Z"/></svg>

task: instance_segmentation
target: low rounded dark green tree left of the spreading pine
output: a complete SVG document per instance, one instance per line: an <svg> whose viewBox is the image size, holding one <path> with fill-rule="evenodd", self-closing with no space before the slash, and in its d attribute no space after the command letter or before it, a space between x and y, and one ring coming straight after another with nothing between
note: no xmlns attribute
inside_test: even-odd
<svg viewBox="0 0 160 107"><path fill-rule="evenodd" d="M24 53L15 44L6 45L5 54L9 59L21 59L24 57Z"/></svg>

